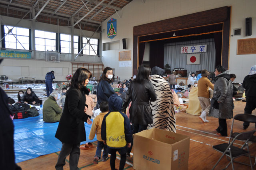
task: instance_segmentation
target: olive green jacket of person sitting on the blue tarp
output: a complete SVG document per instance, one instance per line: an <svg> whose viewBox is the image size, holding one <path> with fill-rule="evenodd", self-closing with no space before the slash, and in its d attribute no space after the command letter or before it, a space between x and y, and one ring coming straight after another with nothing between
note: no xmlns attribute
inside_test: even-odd
<svg viewBox="0 0 256 170"><path fill-rule="evenodd" d="M49 96L44 102L43 106L43 120L44 122L58 122L62 115L62 109L58 106L55 98Z"/></svg>

